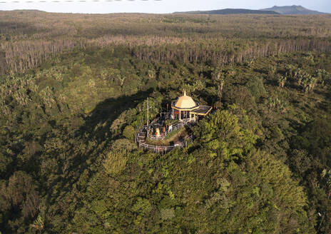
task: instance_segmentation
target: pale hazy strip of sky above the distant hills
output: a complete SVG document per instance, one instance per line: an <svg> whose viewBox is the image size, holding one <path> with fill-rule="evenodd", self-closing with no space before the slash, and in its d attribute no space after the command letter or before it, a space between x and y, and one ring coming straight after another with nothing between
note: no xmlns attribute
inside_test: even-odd
<svg viewBox="0 0 331 234"><path fill-rule="evenodd" d="M18 3L13 1L20 1ZM28 3L26 1L34 1ZM0 0L0 10L39 9L49 12L71 13L172 13L174 11L215 10L225 8L263 9L271 6L301 5L308 9L331 13L331 0L113 0L98 2L38 2L39 0ZM5 2L5 3L4 3Z"/></svg>

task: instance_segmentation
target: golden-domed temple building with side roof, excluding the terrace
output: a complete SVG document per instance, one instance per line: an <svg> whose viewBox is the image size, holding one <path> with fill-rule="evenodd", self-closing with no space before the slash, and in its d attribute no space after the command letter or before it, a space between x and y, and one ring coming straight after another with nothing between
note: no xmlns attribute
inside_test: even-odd
<svg viewBox="0 0 331 234"><path fill-rule="evenodd" d="M171 118L179 121L198 121L199 118L207 116L212 109L211 106L200 106L193 98L186 95L186 91L177 101L171 103L171 108L173 109Z"/></svg>

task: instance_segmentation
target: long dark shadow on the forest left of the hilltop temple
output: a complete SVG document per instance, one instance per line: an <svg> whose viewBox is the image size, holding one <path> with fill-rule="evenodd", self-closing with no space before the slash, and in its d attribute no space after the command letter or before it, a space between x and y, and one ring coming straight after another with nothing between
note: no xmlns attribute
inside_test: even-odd
<svg viewBox="0 0 331 234"><path fill-rule="evenodd" d="M67 155L69 157L70 166L68 173L62 173L58 171L58 176L52 181L48 187L47 203L51 204L51 199L54 197L54 186L56 187L56 198L63 191L72 190L73 184L77 183L80 175L88 169L88 175L91 178L91 173L95 173L98 169L98 163L93 166L93 163L101 161L101 154L104 149L109 146L111 140L110 127L113 121L118 116L130 108L135 108L138 103L145 100L153 92L150 88L146 91L140 91L131 96L120 96L118 98L108 98L101 101L86 117L85 124L81 126L76 132L76 144L72 144L71 148L68 148ZM83 142L79 142L79 141ZM91 141L96 141L96 145L90 146ZM99 147L103 144L101 147ZM83 146L85 145L85 146ZM83 147L83 148L82 148ZM86 150L88 149L88 150ZM84 152L81 154L80 152ZM62 166L63 168L63 166ZM61 166L58 168L61 170ZM87 186L85 183L83 186Z"/></svg>

